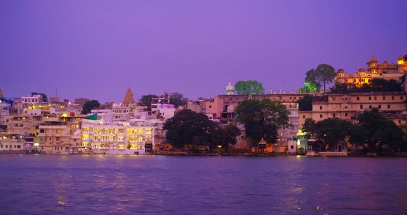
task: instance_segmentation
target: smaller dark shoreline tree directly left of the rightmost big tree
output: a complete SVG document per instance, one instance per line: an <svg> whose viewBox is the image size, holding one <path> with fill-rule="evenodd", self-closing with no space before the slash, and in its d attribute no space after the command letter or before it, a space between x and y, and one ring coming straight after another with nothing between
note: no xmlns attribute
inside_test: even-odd
<svg viewBox="0 0 407 215"><path fill-rule="evenodd" d="M334 150L337 143L344 142L349 136L352 123L339 118L328 118L317 122L315 134L317 139L324 142L329 150Z"/></svg>

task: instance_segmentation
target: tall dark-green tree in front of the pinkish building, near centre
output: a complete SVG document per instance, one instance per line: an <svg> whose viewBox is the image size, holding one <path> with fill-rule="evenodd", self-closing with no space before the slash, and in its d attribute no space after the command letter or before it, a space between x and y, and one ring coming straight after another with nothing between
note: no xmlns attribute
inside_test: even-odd
<svg viewBox="0 0 407 215"><path fill-rule="evenodd" d="M277 142L277 129L290 125L288 110L280 102L270 99L249 99L237 106L237 121L244 123L246 136L257 148L262 138L268 143Z"/></svg>

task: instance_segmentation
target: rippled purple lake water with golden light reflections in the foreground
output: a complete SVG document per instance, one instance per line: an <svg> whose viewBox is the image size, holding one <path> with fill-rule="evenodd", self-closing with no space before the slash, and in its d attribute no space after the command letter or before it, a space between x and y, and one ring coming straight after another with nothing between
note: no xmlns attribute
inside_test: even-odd
<svg viewBox="0 0 407 215"><path fill-rule="evenodd" d="M0 154L0 214L406 214L407 158Z"/></svg>

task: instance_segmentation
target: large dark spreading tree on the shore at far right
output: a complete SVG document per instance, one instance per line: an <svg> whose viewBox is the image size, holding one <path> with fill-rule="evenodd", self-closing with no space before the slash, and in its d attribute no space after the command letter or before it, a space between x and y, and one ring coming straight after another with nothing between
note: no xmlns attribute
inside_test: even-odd
<svg viewBox="0 0 407 215"><path fill-rule="evenodd" d="M397 125L376 108L365 110L358 117L359 132L353 132L350 141L368 145L370 152L380 153L383 145L397 150L404 144L403 132Z"/></svg>

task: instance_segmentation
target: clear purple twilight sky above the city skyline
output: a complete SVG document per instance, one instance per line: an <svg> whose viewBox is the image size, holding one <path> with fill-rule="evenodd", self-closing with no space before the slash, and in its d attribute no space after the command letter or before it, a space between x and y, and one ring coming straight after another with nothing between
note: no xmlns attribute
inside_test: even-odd
<svg viewBox="0 0 407 215"><path fill-rule="evenodd" d="M121 102L213 97L231 81L298 89L320 63L407 54L406 0L0 1L0 89Z"/></svg>

